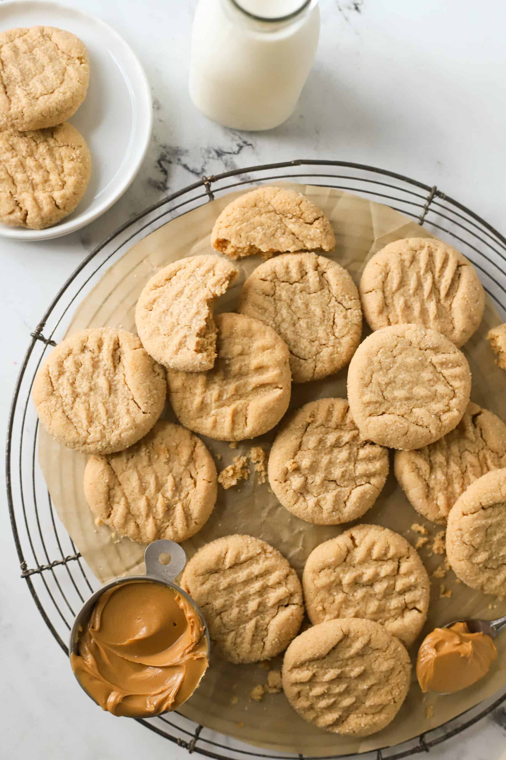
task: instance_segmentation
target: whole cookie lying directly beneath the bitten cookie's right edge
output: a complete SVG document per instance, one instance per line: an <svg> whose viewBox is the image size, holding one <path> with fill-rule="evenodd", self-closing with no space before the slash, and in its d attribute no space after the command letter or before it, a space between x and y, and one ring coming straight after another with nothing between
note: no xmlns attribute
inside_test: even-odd
<svg viewBox="0 0 506 760"><path fill-rule="evenodd" d="M218 441L262 435L288 408L288 348L274 330L241 314L219 314L215 324L217 356L212 369L168 369L172 409L182 425Z"/></svg>

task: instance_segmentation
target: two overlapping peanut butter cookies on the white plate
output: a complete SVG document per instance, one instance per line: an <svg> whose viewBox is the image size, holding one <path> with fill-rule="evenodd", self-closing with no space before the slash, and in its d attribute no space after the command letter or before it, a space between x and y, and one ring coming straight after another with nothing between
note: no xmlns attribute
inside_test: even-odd
<svg viewBox="0 0 506 760"><path fill-rule="evenodd" d="M88 53L74 34L55 27L0 33L0 222L42 230L83 198L90 150L67 119L89 79Z"/></svg>

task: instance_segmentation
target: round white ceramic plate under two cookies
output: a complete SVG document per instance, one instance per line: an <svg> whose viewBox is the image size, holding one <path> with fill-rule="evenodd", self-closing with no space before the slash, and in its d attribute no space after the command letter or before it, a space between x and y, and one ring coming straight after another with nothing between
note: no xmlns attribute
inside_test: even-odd
<svg viewBox="0 0 506 760"><path fill-rule="evenodd" d="M137 55L99 18L56 2L0 3L0 31L46 24L83 40L90 53L90 87L70 119L90 147L92 175L86 195L70 216L47 230L0 224L0 235L45 240L79 230L125 192L146 155L152 129L149 84Z"/></svg>

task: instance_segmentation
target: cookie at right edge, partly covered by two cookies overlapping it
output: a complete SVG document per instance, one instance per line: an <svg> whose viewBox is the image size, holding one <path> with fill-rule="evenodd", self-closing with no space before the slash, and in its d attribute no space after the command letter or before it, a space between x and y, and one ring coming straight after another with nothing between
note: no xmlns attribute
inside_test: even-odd
<svg viewBox="0 0 506 760"><path fill-rule="evenodd" d="M395 477L413 507L444 525L476 478L506 467L506 425L471 401L457 427L429 446L396 451Z"/></svg>

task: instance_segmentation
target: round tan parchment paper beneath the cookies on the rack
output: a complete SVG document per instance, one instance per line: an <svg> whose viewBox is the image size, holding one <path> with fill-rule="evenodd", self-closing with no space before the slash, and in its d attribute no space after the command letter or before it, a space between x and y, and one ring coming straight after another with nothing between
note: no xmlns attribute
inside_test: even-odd
<svg viewBox="0 0 506 760"><path fill-rule="evenodd" d="M408 236L429 236L426 230L381 204L334 189L282 184L304 192L325 211L336 236L335 252L328 256L346 267L356 283L370 255L387 242ZM215 218L232 198L240 194L231 193L190 211L134 245L105 272L95 289L83 300L68 332L100 326L121 327L135 332L134 308L147 278L157 268L178 258L211 253L209 233ZM259 263L260 259L256 256L239 262L240 278L218 302L217 312L235 310L242 283ZM485 340L489 328L500 321L488 299L482 325L467 343L464 353L473 372L473 401L506 420L506 375L495 366L492 351ZM346 375L347 369L343 369L337 375L319 382L294 385L291 409L316 398L346 397ZM174 420L170 410L166 410L165 416ZM212 452L218 470L222 470L231 464L234 456L249 454L251 445L269 448L275 432L274 429L253 442L243 442L235 450L223 442L204 437L203 441ZM112 535L108 527L95 525L83 494L85 462L82 454L58 445L41 429L39 463L49 492L61 521L96 577L103 583L120 575L144 572L144 546ZM429 537L441 530L441 527L423 520L410 506L392 472L376 505L361 522L385 525L397 530L412 543L418 537L410 530L415 522L426 524ZM211 518L200 533L184 542L183 546L190 557L204 543L217 537L247 533L279 549L301 574L312 549L347 527L349 524L326 527L299 520L278 503L270 492L269 483L259 485L252 474L250 480L240 481L227 491L219 487L218 501ZM420 555L429 575L442 562L441 556L430 556L427 548L420 549ZM452 572L448 572L442 580L432 579L429 619L418 643L435 625L444 625L455 618L494 618L506 613L506 603L478 594L455 580ZM451 598L439 598L442 583L451 590ZM234 666L224 663L216 654L212 654L212 667L200 688L181 708L181 712L203 726L281 752L303 752L305 755L366 752L401 743L435 728L506 685L506 636L498 638L497 645L499 657L489 676L460 694L422 698L413 673L409 695L398 716L385 730L366 739L344 738L312 727L297 716L282 693L267 694L260 702L252 701L250 692L253 686L266 683L267 670L259 665ZM415 644L413 658L416 649ZM271 667L281 667L281 657L272 661ZM432 705L433 715L427 718L429 705Z"/></svg>

